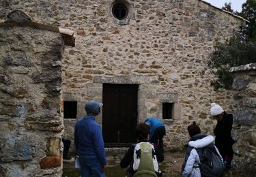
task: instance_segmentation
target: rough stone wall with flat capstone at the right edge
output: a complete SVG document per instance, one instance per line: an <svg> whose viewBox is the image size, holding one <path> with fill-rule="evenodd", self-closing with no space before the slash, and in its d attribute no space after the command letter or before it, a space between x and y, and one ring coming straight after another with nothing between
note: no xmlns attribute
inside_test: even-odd
<svg viewBox="0 0 256 177"><path fill-rule="evenodd" d="M256 64L231 68L236 112L233 134L238 142L234 144L233 163L246 174L256 173ZM254 176L253 175L253 176Z"/></svg>

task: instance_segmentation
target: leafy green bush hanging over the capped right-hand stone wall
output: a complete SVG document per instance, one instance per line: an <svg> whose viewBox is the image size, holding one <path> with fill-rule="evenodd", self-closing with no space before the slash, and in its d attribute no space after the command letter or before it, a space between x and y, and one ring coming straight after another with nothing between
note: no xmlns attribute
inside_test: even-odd
<svg viewBox="0 0 256 177"><path fill-rule="evenodd" d="M240 35L231 37L225 43L218 43L208 65L216 68L216 80L212 82L215 89L231 88L233 77L230 67L256 63L256 42L243 40Z"/></svg>

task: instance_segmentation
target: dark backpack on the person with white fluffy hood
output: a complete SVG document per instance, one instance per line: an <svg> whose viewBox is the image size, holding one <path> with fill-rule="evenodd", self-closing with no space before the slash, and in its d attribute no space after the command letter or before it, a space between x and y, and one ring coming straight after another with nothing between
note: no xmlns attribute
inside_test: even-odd
<svg viewBox="0 0 256 177"><path fill-rule="evenodd" d="M225 165L214 147L197 148L196 150L201 161L199 164L201 176L223 176Z"/></svg>

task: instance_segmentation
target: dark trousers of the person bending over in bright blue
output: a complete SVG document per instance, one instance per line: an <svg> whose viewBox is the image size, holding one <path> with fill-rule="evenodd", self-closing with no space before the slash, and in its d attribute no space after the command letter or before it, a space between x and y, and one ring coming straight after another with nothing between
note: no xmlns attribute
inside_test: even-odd
<svg viewBox="0 0 256 177"><path fill-rule="evenodd" d="M164 138L165 135L165 126L161 126L155 130L152 138L150 139L150 142L158 144L158 149L161 153L164 152L164 142L162 141L162 138Z"/></svg>

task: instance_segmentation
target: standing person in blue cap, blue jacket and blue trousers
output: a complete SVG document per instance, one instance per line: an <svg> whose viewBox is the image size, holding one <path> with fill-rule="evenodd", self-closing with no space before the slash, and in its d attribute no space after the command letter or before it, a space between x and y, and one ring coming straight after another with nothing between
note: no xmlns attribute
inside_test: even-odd
<svg viewBox="0 0 256 177"><path fill-rule="evenodd" d="M100 114L102 103L88 101L85 105L87 114L76 122L74 127L74 145L79 155L81 177L104 177L106 154L100 125L95 116Z"/></svg>

